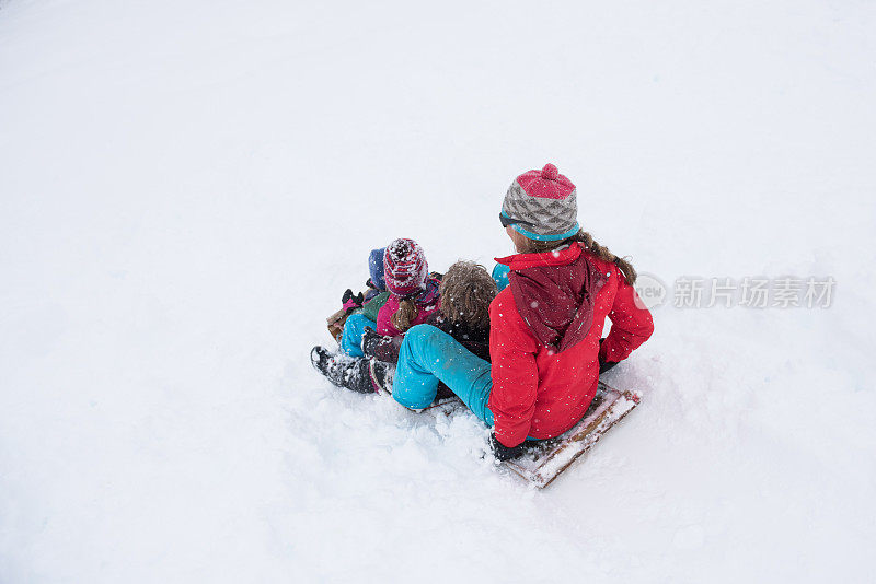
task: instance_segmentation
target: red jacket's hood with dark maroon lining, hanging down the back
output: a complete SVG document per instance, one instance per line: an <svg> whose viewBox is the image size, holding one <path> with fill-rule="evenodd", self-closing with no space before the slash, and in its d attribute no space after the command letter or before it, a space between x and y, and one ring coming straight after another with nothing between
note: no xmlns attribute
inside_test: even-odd
<svg viewBox="0 0 876 584"><path fill-rule="evenodd" d="M517 254L496 261L511 269L515 305L535 339L562 352L580 342L593 323L593 300L606 283L579 243L543 254Z"/></svg>

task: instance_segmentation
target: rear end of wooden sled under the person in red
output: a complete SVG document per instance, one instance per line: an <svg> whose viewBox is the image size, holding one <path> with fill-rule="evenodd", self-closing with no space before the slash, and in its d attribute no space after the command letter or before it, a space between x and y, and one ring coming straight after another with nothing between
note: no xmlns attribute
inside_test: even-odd
<svg viewBox="0 0 876 584"><path fill-rule="evenodd" d="M620 392L599 382L596 397L584 418L568 432L555 439L533 442L526 454L503 463L539 489L548 487L580 455L638 406L642 394Z"/></svg>

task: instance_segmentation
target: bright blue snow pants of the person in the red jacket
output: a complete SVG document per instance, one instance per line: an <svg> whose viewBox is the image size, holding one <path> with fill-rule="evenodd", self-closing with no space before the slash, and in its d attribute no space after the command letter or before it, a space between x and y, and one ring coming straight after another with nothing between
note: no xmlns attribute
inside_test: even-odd
<svg viewBox="0 0 876 584"><path fill-rule="evenodd" d="M435 400L438 382L443 382L475 416L493 427L493 412L487 407L493 389L489 363L443 330L430 325L411 327L399 353L392 397L406 408L423 409Z"/></svg>

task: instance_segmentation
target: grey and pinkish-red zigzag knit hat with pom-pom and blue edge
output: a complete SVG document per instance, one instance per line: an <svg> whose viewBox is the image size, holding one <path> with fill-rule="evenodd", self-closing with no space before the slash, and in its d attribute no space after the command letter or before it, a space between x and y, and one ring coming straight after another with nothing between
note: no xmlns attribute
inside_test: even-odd
<svg viewBox="0 0 876 584"><path fill-rule="evenodd" d="M575 185L550 163L523 173L508 187L499 220L530 240L572 237L580 230Z"/></svg>

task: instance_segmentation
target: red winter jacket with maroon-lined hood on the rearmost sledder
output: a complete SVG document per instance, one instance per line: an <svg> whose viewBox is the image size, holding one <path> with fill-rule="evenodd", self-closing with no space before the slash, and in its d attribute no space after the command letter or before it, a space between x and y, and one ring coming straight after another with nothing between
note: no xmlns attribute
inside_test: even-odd
<svg viewBox="0 0 876 584"><path fill-rule="evenodd" d="M599 358L626 359L654 322L621 270L583 244L496 261L511 272L489 305L488 405L496 439L512 447L575 425L596 395ZM607 316L611 331L600 349Z"/></svg>

